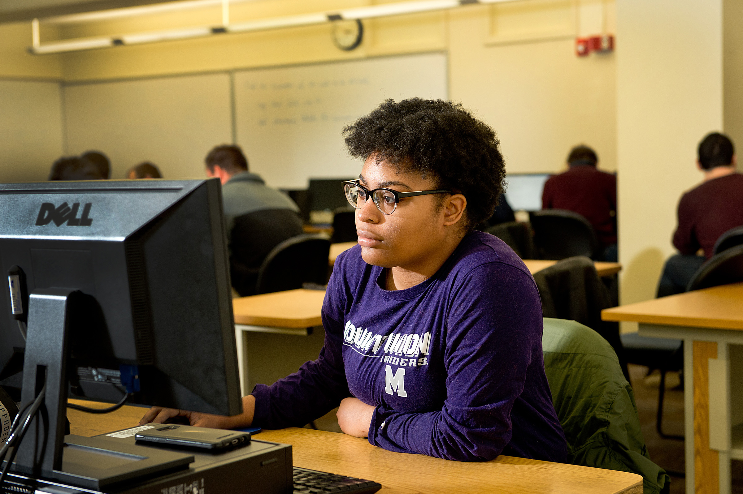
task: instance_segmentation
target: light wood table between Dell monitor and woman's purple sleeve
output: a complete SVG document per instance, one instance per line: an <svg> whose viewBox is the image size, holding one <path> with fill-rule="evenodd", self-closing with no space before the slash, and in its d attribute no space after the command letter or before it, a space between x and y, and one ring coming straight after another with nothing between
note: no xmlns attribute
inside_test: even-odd
<svg viewBox="0 0 743 494"><path fill-rule="evenodd" d="M325 341L322 290L288 290L233 299L243 394L271 384L315 360ZM301 337L301 338L298 338Z"/></svg>

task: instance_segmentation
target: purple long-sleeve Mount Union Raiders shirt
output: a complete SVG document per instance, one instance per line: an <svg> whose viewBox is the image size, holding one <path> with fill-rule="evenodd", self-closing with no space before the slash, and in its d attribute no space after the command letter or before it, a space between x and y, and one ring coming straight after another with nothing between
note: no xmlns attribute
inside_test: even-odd
<svg viewBox="0 0 743 494"><path fill-rule="evenodd" d="M434 276L384 290L361 247L338 256L314 362L253 389L253 423L303 426L340 400L376 406L369 442L483 461L565 461L542 359L542 305L524 263L487 233L464 237Z"/></svg>

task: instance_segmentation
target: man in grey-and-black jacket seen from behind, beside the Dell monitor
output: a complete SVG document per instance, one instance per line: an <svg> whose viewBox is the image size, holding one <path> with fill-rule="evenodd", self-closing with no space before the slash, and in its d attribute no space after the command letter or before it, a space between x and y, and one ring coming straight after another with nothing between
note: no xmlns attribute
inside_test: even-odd
<svg viewBox="0 0 743 494"><path fill-rule="evenodd" d="M207 175L222 183L230 276L240 296L254 295L261 264L273 247L304 233L299 207L247 171L239 146L217 146L206 158Z"/></svg>

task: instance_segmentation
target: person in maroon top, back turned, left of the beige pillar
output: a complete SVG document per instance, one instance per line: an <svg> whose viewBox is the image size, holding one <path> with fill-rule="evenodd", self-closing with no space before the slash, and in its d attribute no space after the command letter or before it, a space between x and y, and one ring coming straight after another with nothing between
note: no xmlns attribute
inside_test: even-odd
<svg viewBox="0 0 743 494"><path fill-rule="evenodd" d="M542 209L568 209L585 216L596 230L604 261L617 261L617 176L597 169L588 146L574 147L568 171L545 182Z"/></svg>

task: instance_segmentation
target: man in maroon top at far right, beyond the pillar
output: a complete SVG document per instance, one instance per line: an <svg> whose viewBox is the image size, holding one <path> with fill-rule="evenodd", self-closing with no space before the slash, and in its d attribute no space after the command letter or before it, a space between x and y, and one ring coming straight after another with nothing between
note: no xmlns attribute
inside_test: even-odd
<svg viewBox="0 0 743 494"><path fill-rule="evenodd" d="M696 270L712 257L720 235L743 225L743 175L736 172L733 142L718 132L704 137L697 168L704 181L678 202L673 245L679 253L663 267L658 296L684 292ZM704 256L697 256L700 249Z"/></svg>

